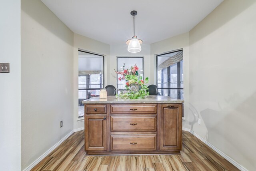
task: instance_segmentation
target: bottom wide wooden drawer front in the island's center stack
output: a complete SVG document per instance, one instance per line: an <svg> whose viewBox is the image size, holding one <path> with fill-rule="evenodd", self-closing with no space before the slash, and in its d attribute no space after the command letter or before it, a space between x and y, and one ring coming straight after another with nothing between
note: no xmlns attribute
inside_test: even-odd
<svg viewBox="0 0 256 171"><path fill-rule="evenodd" d="M113 151L156 150L156 134L111 135L111 140Z"/></svg>

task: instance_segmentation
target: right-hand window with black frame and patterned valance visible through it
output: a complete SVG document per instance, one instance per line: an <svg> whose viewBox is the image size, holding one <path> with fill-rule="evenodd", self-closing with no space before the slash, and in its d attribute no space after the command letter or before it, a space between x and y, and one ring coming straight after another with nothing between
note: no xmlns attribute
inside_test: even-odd
<svg viewBox="0 0 256 171"><path fill-rule="evenodd" d="M160 95L183 98L183 51L156 56L157 87Z"/></svg>

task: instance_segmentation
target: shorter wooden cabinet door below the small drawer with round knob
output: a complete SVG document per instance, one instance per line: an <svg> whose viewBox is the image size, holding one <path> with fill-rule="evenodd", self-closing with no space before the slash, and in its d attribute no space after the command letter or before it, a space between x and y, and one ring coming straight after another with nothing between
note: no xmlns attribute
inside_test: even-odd
<svg viewBox="0 0 256 171"><path fill-rule="evenodd" d="M85 150L107 150L107 116L85 117Z"/></svg>

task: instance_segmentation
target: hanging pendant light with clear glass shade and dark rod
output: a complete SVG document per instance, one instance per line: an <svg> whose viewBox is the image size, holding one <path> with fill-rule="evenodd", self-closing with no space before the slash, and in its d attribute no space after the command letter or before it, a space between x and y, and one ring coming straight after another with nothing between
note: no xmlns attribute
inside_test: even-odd
<svg viewBox="0 0 256 171"><path fill-rule="evenodd" d="M128 52L137 53L141 51L142 40L138 39L134 34L134 16L137 15L137 11L131 11L131 15L133 16L133 37L126 41L128 44Z"/></svg>

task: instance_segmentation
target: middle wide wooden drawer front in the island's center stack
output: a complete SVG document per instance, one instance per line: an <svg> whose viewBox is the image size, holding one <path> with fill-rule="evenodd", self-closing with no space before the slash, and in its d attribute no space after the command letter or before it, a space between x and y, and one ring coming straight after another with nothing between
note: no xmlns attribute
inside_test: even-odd
<svg viewBox="0 0 256 171"><path fill-rule="evenodd" d="M113 115L111 131L156 131L156 115Z"/></svg>

